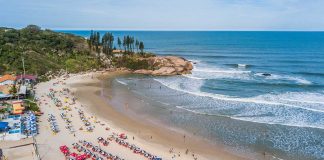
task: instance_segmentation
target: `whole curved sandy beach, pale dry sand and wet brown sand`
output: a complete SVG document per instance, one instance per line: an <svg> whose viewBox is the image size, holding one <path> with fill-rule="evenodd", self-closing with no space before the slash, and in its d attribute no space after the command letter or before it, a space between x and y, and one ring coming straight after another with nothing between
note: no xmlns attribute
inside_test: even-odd
<svg viewBox="0 0 324 160"><path fill-rule="evenodd" d="M221 147L208 145L202 140L189 136L184 138L182 133L174 130L134 121L134 119L114 110L100 96L100 82L104 77L107 78L107 76L117 74L122 73L97 72L70 75L69 78L60 77L39 83L36 86L36 97L39 98L40 108L44 112L44 115L40 117L40 134L36 136L41 159L64 159L65 156L59 150L62 145L69 147L71 152L79 153L73 149L72 144L78 143L80 140L91 142L102 150L122 159L147 159L143 155L135 154L129 148L119 145L114 140L108 140L108 146L98 143L98 137L107 139L112 135L116 136L121 133L127 135L125 141L129 144L140 147L142 150L162 159L242 159L224 151ZM57 107L48 96L50 89L55 92L55 97L62 101L62 107ZM69 91L65 92L64 90ZM85 130L86 127L79 117L79 111L82 111L91 123L92 132ZM66 128L67 123L61 118L61 113L64 113L71 121L70 124L75 133L71 133ZM59 128L58 133L51 130L50 123L47 121L49 114L55 116ZM80 130L81 128L82 130ZM30 138L27 140L30 141ZM14 146L13 143L17 142L2 142L2 144L4 143L6 146ZM28 142L19 141L18 143L16 145ZM31 155L30 159L36 159L36 156L32 157L33 155ZM11 155L8 158L19 159L19 155Z"/></svg>

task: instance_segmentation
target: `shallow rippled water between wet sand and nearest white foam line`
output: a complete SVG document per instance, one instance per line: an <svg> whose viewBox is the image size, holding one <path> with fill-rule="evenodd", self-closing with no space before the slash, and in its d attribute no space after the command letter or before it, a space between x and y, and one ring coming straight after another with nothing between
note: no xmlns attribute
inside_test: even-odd
<svg viewBox="0 0 324 160"><path fill-rule="evenodd" d="M129 94L143 101L143 105L137 105L140 108L130 107L138 116L145 115L166 126L185 129L212 143L225 144L229 150L249 158L260 159L260 154L265 154L267 159L324 158L323 129L240 120L231 117L231 114L240 112L240 109L229 109L223 107L223 104L219 104L222 109L219 108L215 114L207 114L203 112L205 109L214 110L216 103L220 102L214 102L213 98L175 91L163 86L154 77L119 77L112 87L115 90L125 87L130 91ZM113 101L121 103L127 100L113 98ZM211 103L211 106L202 105L205 103ZM196 112L182 107L189 104L195 110L203 111Z"/></svg>

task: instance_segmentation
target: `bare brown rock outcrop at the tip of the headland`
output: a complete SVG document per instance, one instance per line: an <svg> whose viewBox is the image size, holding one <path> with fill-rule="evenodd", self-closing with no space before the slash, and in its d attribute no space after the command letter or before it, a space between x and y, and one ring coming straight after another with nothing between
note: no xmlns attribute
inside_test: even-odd
<svg viewBox="0 0 324 160"><path fill-rule="evenodd" d="M181 75L190 74L193 69L192 63L182 57L176 56L156 56L145 58L148 61L152 70L136 70L134 73L137 74L148 74L148 75Z"/></svg>

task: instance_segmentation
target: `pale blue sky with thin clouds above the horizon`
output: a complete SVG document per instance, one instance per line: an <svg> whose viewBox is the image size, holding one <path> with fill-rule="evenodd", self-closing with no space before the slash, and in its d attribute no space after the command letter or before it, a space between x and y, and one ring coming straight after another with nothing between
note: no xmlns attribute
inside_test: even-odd
<svg viewBox="0 0 324 160"><path fill-rule="evenodd" d="M324 0L0 0L0 26L323 31Z"/></svg>

